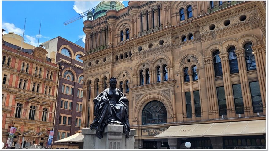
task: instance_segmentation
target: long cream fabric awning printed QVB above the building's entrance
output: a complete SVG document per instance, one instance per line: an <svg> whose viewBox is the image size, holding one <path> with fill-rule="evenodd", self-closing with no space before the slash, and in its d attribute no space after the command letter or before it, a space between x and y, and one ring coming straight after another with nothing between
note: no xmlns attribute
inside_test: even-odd
<svg viewBox="0 0 269 151"><path fill-rule="evenodd" d="M170 126L167 130L165 130L159 135L156 135L155 137L186 138L186 137L264 135L265 130L266 130L265 120L251 120L240 122Z"/></svg>

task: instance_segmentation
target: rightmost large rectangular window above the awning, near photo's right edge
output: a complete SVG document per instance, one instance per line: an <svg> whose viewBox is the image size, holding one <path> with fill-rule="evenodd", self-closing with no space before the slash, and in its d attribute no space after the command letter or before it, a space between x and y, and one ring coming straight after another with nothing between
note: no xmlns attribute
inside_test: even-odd
<svg viewBox="0 0 269 151"><path fill-rule="evenodd" d="M250 82L250 92L251 92L251 98L252 98L252 106L254 113L256 112L263 112L263 102L262 97L260 93L260 86L259 82Z"/></svg>

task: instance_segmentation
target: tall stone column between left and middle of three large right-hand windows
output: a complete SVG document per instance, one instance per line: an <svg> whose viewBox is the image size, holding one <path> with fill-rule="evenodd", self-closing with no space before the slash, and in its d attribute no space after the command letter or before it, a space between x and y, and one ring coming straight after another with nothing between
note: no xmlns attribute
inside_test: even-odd
<svg viewBox="0 0 269 151"><path fill-rule="evenodd" d="M230 78L229 53L220 53L223 84L227 106L227 118L235 118L234 95Z"/></svg>

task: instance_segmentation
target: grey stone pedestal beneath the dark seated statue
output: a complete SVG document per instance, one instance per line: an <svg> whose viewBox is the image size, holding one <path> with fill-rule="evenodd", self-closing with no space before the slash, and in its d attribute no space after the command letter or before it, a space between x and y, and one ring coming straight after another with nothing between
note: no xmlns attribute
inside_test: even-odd
<svg viewBox="0 0 269 151"><path fill-rule="evenodd" d="M83 128L83 149L134 149L136 130L131 129L129 138L123 134L122 125L108 125L104 129L103 138L95 136L96 130Z"/></svg>

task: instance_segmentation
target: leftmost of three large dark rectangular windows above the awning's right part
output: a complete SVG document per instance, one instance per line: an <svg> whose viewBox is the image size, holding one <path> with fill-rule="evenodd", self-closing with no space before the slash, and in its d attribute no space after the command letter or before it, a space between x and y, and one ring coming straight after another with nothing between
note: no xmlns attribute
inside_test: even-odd
<svg viewBox="0 0 269 151"><path fill-rule="evenodd" d="M218 87L217 94L218 94L218 102L219 102L219 115L226 115L227 106L226 106L224 87Z"/></svg>

